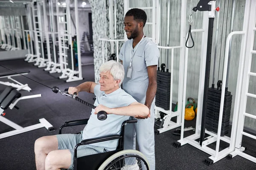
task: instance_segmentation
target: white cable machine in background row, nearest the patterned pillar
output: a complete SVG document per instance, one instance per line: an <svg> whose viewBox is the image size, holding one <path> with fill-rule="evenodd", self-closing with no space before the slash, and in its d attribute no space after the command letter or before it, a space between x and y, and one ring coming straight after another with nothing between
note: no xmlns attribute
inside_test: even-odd
<svg viewBox="0 0 256 170"><path fill-rule="evenodd" d="M80 40L79 40L79 19L78 19L78 5L77 0L75 3L75 17L76 17L76 34L72 33L72 21L70 17L70 0L65 1L66 5L62 5L64 11L59 10L59 6L56 5L56 15L57 15L57 28L58 28L58 48L59 48L59 62L61 69L60 79L67 78L66 82L73 82L82 80L81 71L81 50L80 50ZM58 0L56 0L58 4ZM77 62L78 67L75 66L75 52L73 50L72 36L76 36L77 41Z"/></svg>

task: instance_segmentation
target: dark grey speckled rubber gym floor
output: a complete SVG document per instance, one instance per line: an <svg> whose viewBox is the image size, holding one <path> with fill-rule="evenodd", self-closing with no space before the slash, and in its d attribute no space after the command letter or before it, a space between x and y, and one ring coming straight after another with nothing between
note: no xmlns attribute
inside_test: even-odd
<svg viewBox="0 0 256 170"><path fill-rule="evenodd" d="M86 56L85 56L86 57ZM91 56L87 59L93 61ZM86 63L86 62L85 62ZM87 62L88 63L88 62ZM94 66L84 65L82 67L84 80L77 82L64 82L63 79L57 79L59 74L48 74L43 71L43 68L37 68L32 63L27 63L23 59L0 61L4 65L13 70L30 70L26 75L31 79L35 79L49 87L58 86L61 90L70 86L77 86L84 81L94 82ZM9 72L6 68L0 67L0 72ZM40 85L32 80L22 76L17 76L14 79L28 84L32 91L20 91L22 96L42 94L42 97L35 99L21 100L17 103L20 108L9 108L5 111L5 117L23 127L34 125L38 119L45 118L54 127L55 131L48 132L44 127L32 130L26 133L21 133L15 136L10 136L0 139L0 170L35 170L35 155L34 142L41 136L49 136L58 134L58 128L64 122L75 119L87 119L90 116L91 109L82 105L75 100L61 94L55 94L51 89ZM12 82L9 79L1 79L1 81ZM5 85L0 85L0 93L6 88ZM79 97L89 103L94 102L94 94L80 93ZM185 127L195 127L195 119L193 121L185 121ZM64 129L64 133L76 133L83 129L84 126L69 127ZM231 129L231 127L230 127ZM0 133L5 133L13 130L11 127L0 122ZM175 130L175 129L174 129ZM208 167L203 162L209 157L207 153L185 144L180 148L172 146L173 142L180 139L180 136L172 134L174 130L169 130L155 136L155 154L156 154L156 170L255 170L256 164L244 159L240 156L234 157L232 160L227 158ZM189 136L193 131L187 131L185 136ZM227 135L229 136L230 133ZM256 142L253 139L243 138L243 146L247 147L245 153L256 156ZM211 145L215 148L214 143ZM221 149L227 147L228 144L221 142ZM220 150L221 150L220 149Z"/></svg>

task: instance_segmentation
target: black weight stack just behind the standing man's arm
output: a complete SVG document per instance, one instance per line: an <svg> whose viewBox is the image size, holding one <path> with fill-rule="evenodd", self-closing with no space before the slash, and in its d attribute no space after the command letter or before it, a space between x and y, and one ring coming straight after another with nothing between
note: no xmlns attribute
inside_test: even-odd
<svg viewBox="0 0 256 170"><path fill-rule="evenodd" d="M157 71L157 93L155 105L170 110L171 73Z"/></svg>

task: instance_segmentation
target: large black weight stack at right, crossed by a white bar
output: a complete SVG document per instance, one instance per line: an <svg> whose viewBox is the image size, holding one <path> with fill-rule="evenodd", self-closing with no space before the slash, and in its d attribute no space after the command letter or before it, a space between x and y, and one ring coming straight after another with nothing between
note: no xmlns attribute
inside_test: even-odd
<svg viewBox="0 0 256 170"><path fill-rule="evenodd" d="M230 91L225 92L223 116L221 124L221 136L228 133L230 113L232 105L232 95ZM218 120L221 107L221 90L217 88L209 88L207 102L206 125L207 130L218 133Z"/></svg>

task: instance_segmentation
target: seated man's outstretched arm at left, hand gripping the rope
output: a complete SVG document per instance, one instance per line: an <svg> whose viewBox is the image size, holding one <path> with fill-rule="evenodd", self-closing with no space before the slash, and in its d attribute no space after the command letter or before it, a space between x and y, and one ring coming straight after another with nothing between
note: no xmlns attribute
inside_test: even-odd
<svg viewBox="0 0 256 170"><path fill-rule="evenodd" d="M75 92L78 94L80 91L86 91L89 93L94 93L94 88L97 84L95 82L83 82L82 84L76 87L70 87L68 89L69 94L74 94Z"/></svg>

